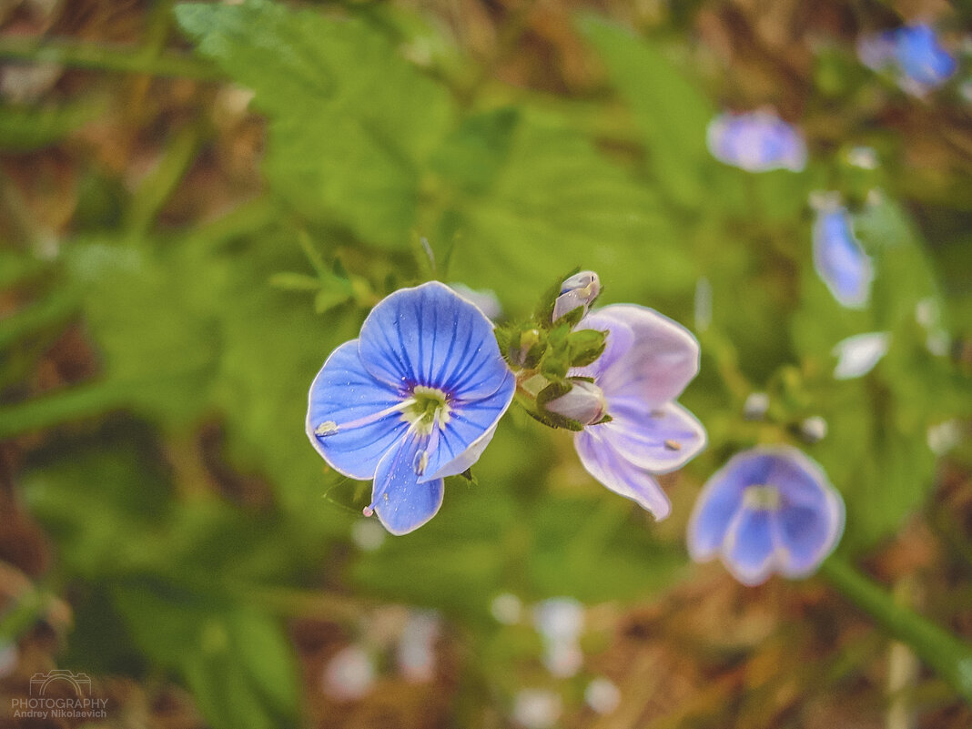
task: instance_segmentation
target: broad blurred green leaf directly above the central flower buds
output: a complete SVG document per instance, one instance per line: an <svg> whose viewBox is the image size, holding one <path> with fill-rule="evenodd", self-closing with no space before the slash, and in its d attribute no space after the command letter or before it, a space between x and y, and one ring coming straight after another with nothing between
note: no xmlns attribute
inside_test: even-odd
<svg viewBox="0 0 972 729"><path fill-rule="evenodd" d="M449 220L462 237L451 276L503 290L520 310L533 307L536 290L507 282L545 282L551 271L581 263L621 300L684 294L695 264L668 216L651 191L582 136L559 121L527 116L489 191L457 201Z"/></svg>

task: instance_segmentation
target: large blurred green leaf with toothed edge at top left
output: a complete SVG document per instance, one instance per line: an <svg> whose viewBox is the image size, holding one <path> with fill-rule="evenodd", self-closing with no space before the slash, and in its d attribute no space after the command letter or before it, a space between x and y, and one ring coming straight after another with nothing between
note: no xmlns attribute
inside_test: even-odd
<svg viewBox="0 0 972 729"><path fill-rule="evenodd" d="M368 242L407 244L419 170L451 123L442 87L355 18L264 0L185 4L176 17L200 52L256 91L270 117L266 174L281 197Z"/></svg>

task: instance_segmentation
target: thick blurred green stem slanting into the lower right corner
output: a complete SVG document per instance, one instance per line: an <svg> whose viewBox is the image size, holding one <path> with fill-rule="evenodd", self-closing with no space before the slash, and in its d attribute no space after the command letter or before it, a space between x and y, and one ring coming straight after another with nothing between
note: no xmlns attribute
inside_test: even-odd
<svg viewBox="0 0 972 729"><path fill-rule="evenodd" d="M859 573L841 557L830 557L820 573L858 608L870 614L885 630L907 643L915 654L972 704L972 645L896 604L869 577Z"/></svg>

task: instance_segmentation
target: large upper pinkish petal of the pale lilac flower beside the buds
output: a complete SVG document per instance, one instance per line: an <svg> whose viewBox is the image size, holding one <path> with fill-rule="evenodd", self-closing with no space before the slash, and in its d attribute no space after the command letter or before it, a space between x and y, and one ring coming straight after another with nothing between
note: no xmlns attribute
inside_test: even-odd
<svg viewBox="0 0 972 729"><path fill-rule="evenodd" d="M626 324L634 334L631 347L598 379L608 400L635 398L644 407L676 399L699 371L699 343L666 316L632 304L613 304L597 312Z"/></svg>

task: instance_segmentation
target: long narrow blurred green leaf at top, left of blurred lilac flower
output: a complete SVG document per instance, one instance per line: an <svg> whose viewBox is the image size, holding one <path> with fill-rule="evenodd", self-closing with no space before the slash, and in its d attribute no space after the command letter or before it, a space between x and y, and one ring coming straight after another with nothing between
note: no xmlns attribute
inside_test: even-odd
<svg viewBox="0 0 972 729"><path fill-rule="evenodd" d="M579 20L584 37L608 66L611 82L635 114L649 164L674 199L698 207L708 194L706 127L713 110L654 44L599 17Z"/></svg>

